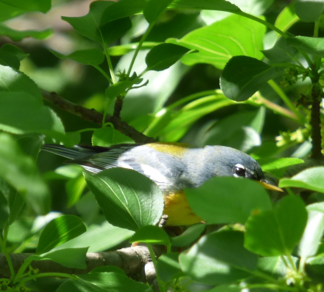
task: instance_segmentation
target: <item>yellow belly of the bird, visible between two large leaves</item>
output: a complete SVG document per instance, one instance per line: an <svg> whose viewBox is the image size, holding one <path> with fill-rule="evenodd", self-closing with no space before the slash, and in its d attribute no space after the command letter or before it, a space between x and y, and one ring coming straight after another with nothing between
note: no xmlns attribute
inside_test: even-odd
<svg viewBox="0 0 324 292"><path fill-rule="evenodd" d="M183 191L164 194L164 212L168 215L167 226L192 225L202 219L193 213Z"/></svg>

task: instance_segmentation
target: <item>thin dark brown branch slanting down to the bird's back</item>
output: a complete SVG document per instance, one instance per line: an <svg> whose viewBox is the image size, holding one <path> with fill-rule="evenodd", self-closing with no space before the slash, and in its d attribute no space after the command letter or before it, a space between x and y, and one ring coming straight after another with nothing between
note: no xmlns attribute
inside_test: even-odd
<svg viewBox="0 0 324 292"><path fill-rule="evenodd" d="M43 89L41 89L41 92L43 95L43 99L51 102L52 104L55 104L60 109L73 113L81 117L83 120L90 121L97 124L102 124L103 115L102 113L96 111L95 109L90 110L86 107L73 103L69 100L60 97L55 92L48 92ZM137 131L129 124L121 121L119 115L115 116L114 114L113 116L106 116L105 122L112 123L116 130L132 138L136 143L155 142L153 138L145 136L143 133Z"/></svg>

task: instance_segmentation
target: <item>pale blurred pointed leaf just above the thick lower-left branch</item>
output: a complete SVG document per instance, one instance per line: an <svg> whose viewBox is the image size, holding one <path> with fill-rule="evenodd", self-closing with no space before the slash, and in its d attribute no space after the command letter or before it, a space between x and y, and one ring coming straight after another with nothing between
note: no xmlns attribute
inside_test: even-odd
<svg viewBox="0 0 324 292"><path fill-rule="evenodd" d="M134 231L112 226L105 221L101 225L89 226L86 232L62 243L54 250L89 247L88 252L105 251L129 239L133 233Z"/></svg>

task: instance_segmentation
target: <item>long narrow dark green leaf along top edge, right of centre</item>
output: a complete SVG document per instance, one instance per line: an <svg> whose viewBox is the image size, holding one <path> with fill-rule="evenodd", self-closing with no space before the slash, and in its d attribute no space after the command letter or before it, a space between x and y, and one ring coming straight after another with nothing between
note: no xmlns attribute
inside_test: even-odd
<svg viewBox="0 0 324 292"><path fill-rule="evenodd" d="M226 0L175 0L169 6L169 8L175 9L199 9L199 10L219 10L219 11L227 11L232 13L238 13L241 10L234 4L226 1Z"/></svg>

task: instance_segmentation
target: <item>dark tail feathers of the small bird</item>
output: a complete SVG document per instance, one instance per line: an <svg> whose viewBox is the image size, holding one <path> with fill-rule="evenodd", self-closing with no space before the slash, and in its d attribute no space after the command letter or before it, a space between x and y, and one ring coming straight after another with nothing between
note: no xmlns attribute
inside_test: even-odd
<svg viewBox="0 0 324 292"><path fill-rule="evenodd" d="M42 150L54 153L56 155L63 156L65 158L73 159L73 160L89 157L93 154L100 152L100 151L97 152L95 148L88 149L86 147L81 147L81 146L66 148L63 145L57 145L57 144L44 144L42 146Z"/></svg>

